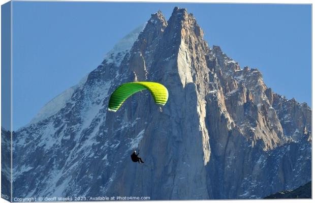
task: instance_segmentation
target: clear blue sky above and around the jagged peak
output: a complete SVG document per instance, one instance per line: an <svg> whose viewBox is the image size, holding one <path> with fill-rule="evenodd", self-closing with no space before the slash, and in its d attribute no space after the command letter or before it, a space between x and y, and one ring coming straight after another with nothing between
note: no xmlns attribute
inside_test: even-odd
<svg viewBox="0 0 315 203"><path fill-rule="evenodd" d="M274 92L311 105L311 6L13 2L13 129L95 69L152 13L193 13L210 46L258 68Z"/></svg>

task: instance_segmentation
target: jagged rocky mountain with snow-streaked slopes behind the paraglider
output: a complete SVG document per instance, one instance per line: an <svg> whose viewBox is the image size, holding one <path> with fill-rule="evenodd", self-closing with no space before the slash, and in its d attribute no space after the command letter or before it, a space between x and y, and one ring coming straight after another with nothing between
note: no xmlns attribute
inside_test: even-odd
<svg viewBox="0 0 315 203"><path fill-rule="evenodd" d="M130 81L164 84L167 104L143 91L108 111ZM311 180L311 109L210 48L186 9L152 14L131 48L62 101L14 132L13 197L263 198ZM134 149L144 164L130 160Z"/></svg>

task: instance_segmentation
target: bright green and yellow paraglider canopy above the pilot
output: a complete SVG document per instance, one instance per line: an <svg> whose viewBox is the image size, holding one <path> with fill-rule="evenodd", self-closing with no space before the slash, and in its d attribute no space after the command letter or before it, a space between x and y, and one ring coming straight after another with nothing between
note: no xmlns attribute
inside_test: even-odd
<svg viewBox="0 0 315 203"><path fill-rule="evenodd" d="M110 96L108 110L116 112L131 95L149 90L156 104L165 105L169 93L163 84L157 82L129 82L120 85Z"/></svg>

